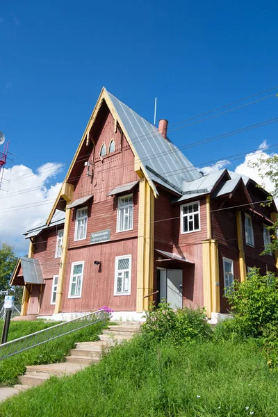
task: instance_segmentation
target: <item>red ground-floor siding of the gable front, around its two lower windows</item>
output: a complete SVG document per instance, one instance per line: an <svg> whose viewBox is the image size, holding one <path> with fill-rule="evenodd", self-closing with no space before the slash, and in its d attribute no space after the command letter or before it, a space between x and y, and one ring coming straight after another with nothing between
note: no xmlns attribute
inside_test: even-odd
<svg viewBox="0 0 278 417"><path fill-rule="evenodd" d="M131 254L131 295L114 295L115 256ZM119 240L67 254L67 271L63 287L63 311L91 311L109 306L115 311L136 311L137 239ZM68 298L72 262L84 261L81 298ZM101 272L94 261L101 261Z"/></svg>

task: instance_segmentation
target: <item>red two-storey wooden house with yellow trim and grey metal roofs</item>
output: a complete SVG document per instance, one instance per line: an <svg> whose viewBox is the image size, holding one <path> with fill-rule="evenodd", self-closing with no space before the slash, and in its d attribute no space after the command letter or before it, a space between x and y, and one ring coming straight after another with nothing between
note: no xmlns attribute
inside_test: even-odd
<svg viewBox="0 0 278 417"><path fill-rule="evenodd" d="M26 233L22 315L64 317L108 306L140 318L163 298L174 308L227 313L225 288L248 268L276 272L275 204L228 170L202 174L167 137L105 88L45 224ZM57 316L58 315L58 316Z"/></svg>

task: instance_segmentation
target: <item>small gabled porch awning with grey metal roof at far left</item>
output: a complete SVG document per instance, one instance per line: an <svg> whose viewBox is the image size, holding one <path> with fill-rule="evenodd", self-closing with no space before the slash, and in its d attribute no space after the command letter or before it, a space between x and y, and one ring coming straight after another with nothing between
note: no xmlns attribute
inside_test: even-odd
<svg viewBox="0 0 278 417"><path fill-rule="evenodd" d="M38 259L22 257L17 261L10 285L26 284L45 284Z"/></svg>

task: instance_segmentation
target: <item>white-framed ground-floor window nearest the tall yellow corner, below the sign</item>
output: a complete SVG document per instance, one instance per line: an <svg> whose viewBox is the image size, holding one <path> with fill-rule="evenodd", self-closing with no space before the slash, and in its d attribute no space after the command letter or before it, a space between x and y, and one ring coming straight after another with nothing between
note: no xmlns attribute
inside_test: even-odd
<svg viewBox="0 0 278 417"><path fill-rule="evenodd" d="M131 293L131 255L116 256L114 295Z"/></svg>

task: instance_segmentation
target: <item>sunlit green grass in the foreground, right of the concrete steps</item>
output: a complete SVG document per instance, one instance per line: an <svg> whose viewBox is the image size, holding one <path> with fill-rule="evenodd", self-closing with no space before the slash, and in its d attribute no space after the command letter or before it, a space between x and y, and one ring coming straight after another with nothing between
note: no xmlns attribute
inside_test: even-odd
<svg viewBox="0 0 278 417"><path fill-rule="evenodd" d="M138 336L95 366L10 398L0 416L277 417L277 386L252 341L174 347Z"/></svg>

